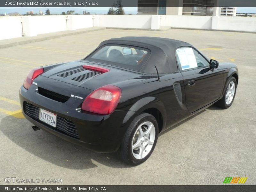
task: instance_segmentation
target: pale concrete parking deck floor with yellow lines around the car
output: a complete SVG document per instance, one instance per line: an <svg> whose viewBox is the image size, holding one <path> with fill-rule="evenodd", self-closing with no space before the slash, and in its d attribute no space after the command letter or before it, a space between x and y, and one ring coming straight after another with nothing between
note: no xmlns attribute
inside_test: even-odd
<svg viewBox="0 0 256 192"><path fill-rule="evenodd" d="M212 106L164 132L152 156L136 167L123 164L116 154L93 153L33 131L18 102L30 69L84 58L103 40L122 36L186 41L207 57L239 68L229 109ZM255 184L255 44L256 34L247 33L105 29L0 49L0 185L13 184L5 183L6 177L62 179L62 185L221 185L225 177L236 176L248 177L245 185Z"/></svg>

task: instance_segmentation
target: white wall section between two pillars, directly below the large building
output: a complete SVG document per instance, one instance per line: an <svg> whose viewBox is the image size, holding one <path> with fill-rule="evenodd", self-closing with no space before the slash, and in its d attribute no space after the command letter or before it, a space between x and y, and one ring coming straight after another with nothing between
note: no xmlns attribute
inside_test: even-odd
<svg viewBox="0 0 256 192"><path fill-rule="evenodd" d="M162 26L180 27L180 28L212 28L212 16L188 16L188 15L165 15L161 18Z"/></svg>

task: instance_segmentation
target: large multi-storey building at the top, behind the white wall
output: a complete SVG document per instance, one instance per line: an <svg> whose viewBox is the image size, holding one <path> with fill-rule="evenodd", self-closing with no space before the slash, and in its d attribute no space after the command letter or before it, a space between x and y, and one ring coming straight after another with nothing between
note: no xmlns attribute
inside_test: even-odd
<svg viewBox="0 0 256 192"><path fill-rule="evenodd" d="M218 16L218 2L219 0L138 0L138 15Z"/></svg>

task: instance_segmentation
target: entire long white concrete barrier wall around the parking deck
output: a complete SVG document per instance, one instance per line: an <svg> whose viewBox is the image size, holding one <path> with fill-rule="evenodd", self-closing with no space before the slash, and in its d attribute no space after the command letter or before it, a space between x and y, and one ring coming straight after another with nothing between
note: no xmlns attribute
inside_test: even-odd
<svg viewBox="0 0 256 192"><path fill-rule="evenodd" d="M160 26L256 32L255 17L186 15L50 15L0 17L0 40L89 27L159 29Z"/></svg>

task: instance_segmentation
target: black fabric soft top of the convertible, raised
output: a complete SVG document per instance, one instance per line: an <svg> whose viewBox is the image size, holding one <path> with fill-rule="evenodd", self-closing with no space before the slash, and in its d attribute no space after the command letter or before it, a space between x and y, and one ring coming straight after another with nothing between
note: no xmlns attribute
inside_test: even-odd
<svg viewBox="0 0 256 192"><path fill-rule="evenodd" d="M172 73L178 70L175 51L178 47L190 46L183 41L160 38L160 37L121 37L103 41L98 47L105 44L123 44L143 47L150 50L150 56L141 71L146 73L156 73L155 65L159 73ZM97 50L96 49L96 50Z"/></svg>

